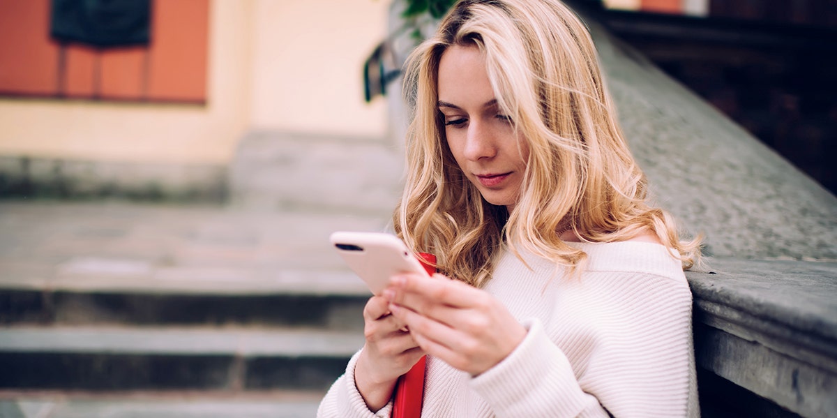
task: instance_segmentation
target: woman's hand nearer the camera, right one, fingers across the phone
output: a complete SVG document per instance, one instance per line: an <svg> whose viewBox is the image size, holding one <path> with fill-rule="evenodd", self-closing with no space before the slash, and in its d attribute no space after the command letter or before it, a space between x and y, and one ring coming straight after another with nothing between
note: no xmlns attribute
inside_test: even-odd
<svg viewBox="0 0 837 418"><path fill-rule="evenodd" d="M461 281L395 276L384 292L389 311L425 352L472 375L511 353L526 328L488 292Z"/></svg>

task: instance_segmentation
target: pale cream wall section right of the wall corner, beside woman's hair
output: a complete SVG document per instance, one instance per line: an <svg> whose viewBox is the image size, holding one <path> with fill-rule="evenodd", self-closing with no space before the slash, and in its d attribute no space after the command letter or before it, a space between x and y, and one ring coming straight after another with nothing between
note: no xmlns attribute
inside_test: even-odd
<svg viewBox="0 0 837 418"><path fill-rule="evenodd" d="M259 0L257 128L383 137L386 105L363 101L362 65L386 35L388 0Z"/></svg>

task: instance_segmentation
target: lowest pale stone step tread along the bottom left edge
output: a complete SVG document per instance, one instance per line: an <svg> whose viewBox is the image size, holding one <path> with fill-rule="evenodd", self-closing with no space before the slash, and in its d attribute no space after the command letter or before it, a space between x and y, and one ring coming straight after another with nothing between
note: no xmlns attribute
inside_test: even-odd
<svg viewBox="0 0 837 418"><path fill-rule="evenodd" d="M3 418L308 418L325 395L320 390L77 391L0 390Z"/></svg>

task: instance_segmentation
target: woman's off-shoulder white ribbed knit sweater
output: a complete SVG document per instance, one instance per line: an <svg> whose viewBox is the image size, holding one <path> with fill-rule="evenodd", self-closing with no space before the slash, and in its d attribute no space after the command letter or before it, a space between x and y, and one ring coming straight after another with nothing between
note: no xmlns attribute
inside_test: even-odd
<svg viewBox="0 0 837 418"><path fill-rule="evenodd" d="M485 290L528 330L476 377L428 356L423 416L699 416L691 292L662 245L571 243L588 254L578 277L502 255ZM557 273L557 275L555 274ZM322 400L320 417L386 417L354 384L357 354Z"/></svg>

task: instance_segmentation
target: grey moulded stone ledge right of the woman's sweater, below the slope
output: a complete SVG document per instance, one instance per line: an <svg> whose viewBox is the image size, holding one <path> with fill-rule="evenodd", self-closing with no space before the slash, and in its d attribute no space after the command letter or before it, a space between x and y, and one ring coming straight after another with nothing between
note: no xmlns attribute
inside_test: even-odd
<svg viewBox="0 0 837 418"><path fill-rule="evenodd" d="M687 272L696 362L777 410L837 415L837 263L710 262Z"/></svg>

